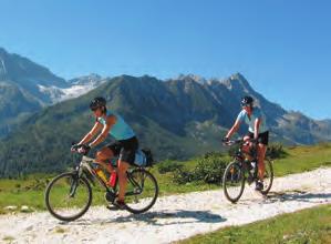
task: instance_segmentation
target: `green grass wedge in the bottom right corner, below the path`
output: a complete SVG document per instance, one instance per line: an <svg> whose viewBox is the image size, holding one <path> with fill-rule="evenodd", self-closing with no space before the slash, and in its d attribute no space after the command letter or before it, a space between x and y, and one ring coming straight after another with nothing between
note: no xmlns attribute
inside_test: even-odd
<svg viewBox="0 0 331 244"><path fill-rule="evenodd" d="M331 204L279 215L244 226L223 228L178 243L328 244L331 243Z"/></svg>

